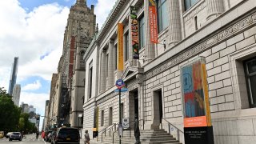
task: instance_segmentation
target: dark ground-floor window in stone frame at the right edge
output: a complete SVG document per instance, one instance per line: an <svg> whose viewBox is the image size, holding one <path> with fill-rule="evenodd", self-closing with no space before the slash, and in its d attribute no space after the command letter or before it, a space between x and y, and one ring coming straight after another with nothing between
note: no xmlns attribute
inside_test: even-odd
<svg viewBox="0 0 256 144"><path fill-rule="evenodd" d="M250 107L256 107L256 58L244 62Z"/></svg>

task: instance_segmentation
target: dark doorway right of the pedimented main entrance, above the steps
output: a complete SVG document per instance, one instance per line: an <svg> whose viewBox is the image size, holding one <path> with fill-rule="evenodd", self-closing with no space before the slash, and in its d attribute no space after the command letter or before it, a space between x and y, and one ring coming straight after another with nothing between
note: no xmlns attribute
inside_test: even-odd
<svg viewBox="0 0 256 144"><path fill-rule="evenodd" d="M162 90L155 90L153 93L153 124L152 129L159 129L162 123Z"/></svg>

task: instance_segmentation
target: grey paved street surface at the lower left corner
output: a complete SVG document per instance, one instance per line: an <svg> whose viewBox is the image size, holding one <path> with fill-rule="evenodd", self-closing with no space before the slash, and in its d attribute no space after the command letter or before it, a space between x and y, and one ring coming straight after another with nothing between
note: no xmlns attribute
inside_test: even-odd
<svg viewBox="0 0 256 144"><path fill-rule="evenodd" d="M15 144L23 144L23 143L50 143L50 142L44 142L43 139L39 136L39 138L35 138L35 134L26 134L26 138L23 138L22 141L9 141L9 138L2 138L0 139L1 144L5 143L15 143Z"/></svg>

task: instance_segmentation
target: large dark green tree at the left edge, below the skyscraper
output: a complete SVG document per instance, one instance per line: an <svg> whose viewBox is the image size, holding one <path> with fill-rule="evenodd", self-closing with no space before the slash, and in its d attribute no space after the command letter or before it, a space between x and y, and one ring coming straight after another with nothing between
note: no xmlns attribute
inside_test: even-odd
<svg viewBox="0 0 256 144"><path fill-rule="evenodd" d="M18 130L21 110L14 105L11 96L2 87L0 88L0 107L0 130L5 132Z"/></svg>

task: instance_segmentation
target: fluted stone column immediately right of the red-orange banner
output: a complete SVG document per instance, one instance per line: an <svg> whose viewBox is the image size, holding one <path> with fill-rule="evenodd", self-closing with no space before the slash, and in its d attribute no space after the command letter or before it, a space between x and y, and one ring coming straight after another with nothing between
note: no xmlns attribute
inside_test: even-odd
<svg viewBox="0 0 256 144"><path fill-rule="evenodd" d="M169 45L174 46L176 43L182 40L182 24L180 19L178 0L170 0L169 2Z"/></svg>

